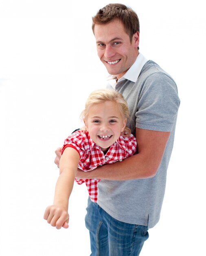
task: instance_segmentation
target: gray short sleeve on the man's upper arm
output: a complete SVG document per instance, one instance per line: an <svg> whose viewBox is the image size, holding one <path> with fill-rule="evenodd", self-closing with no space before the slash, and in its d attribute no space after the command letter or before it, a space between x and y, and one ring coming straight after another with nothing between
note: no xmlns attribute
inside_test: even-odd
<svg viewBox="0 0 206 256"><path fill-rule="evenodd" d="M140 93L136 127L171 131L179 106L180 99L173 79L163 72L151 74Z"/></svg>

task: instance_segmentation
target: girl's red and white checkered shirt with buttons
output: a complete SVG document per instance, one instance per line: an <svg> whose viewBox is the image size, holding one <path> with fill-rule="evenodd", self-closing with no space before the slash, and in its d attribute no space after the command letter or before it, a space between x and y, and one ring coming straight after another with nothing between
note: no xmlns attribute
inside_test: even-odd
<svg viewBox="0 0 206 256"><path fill-rule="evenodd" d="M96 169L99 165L113 164L134 155L137 150L137 142L134 135L129 137L120 136L104 155L100 146L92 141L87 131L77 130L65 139L61 153L64 152L66 147L77 150L80 156L78 167L86 172ZM85 182L92 202L97 202L97 184L100 179L75 179L75 181L78 184Z"/></svg>

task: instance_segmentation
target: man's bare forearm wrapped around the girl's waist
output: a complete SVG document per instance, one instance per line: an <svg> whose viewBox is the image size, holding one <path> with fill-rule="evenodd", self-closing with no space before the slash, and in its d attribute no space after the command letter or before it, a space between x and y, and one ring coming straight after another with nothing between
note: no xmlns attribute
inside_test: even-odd
<svg viewBox="0 0 206 256"><path fill-rule="evenodd" d="M136 128L138 154L123 162L106 164L93 171L77 171L78 178L105 180L134 180L154 177L158 171L170 132Z"/></svg>

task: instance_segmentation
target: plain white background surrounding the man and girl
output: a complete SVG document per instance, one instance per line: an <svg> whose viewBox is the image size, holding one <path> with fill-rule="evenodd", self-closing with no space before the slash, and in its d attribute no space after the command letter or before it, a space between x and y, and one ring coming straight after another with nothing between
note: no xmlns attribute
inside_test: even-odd
<svg viewBox="0 0 206 256"><path fill-rule="evenodd" d="M54 151L80 126L85 99L104 87L107 74L91 17L109 2L69 2L0 0L2 256L90 254L84 185L74 187L69 229L57 230L43 219L59 174ZM141 256L204 256L204 1L117 2L138 13L140 52L173 76L181 99L160 222L149 231Z"/></svg>

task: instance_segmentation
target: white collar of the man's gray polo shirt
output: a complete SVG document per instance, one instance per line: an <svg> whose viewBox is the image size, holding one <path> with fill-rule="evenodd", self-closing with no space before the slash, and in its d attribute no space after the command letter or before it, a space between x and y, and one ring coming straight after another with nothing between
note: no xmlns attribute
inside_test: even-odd
<svg viewBox="0 0 206 256"><path fill-rule="evenodd" d="M138 76L140 75L140 72L142 70L142 67L145 65L145 63L147 62L147 59L145 58L145 56L143 56L143 54L139 53L136 61L134 62L134 64L129 68L129 70L127 70L127 72L124 74L123 77L121 77L118 81L117 81L117 77L115 75L109 75L107 77L107 81L108 83L115 89L116 84L120 81L123 81L125 79L132 81L132 82L136 82L138 79Z"/></svg>

